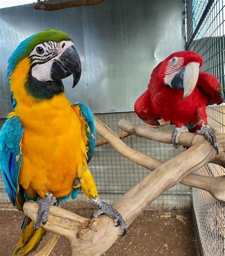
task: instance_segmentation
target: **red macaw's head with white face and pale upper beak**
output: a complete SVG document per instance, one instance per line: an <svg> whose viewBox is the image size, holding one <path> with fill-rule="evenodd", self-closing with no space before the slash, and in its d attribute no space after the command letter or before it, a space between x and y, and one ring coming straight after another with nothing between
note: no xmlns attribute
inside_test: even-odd
<svg viewBox="0 0 225 256"><path fill-rule="evenodd" d="M183 90L183 98L187 98L194 90L199 68L203 64L202 57L192 51L178 51L161 62L157 79L172 89Z"/></svg>

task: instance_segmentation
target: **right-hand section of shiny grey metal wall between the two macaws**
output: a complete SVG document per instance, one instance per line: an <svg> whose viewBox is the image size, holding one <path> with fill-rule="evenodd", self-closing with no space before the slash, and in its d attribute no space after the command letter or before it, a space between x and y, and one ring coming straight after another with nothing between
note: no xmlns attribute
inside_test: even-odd
<svg viewBox="0 0 225 256"><path fill-rule="evenodd" d="M133 109L151 70L170 53L184 49L183 10L181 0L107 0L83 8L94 111Z"/></svg>

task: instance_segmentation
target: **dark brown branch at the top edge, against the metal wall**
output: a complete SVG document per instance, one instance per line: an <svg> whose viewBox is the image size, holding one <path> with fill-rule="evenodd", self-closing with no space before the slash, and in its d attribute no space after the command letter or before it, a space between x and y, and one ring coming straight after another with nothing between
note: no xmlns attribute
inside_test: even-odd
<svg viewBox="0 0 225 256"><path fill-rule="evenodd" d="M73 0L63 3L49 4L49 3L37 3L34 5L36 10L61 10L71 7L80 7L85 5L95 5L104 2L105 0Z"/></svg>

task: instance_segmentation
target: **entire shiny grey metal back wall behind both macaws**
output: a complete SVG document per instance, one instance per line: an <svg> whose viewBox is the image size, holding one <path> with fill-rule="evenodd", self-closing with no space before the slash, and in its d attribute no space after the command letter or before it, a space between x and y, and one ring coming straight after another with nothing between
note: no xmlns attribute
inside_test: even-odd
<svg viewBox="0 0 225 256"><path fill-rule="evenodd" d="M80 83L67 96L93 111L132 109L148 85L151 70L184 49L182 0L107 0L53 12L32 5L0 10L0 117L11 110L5 78L7 60L19 42L45 29L67 32L82 60Z"/></svg>

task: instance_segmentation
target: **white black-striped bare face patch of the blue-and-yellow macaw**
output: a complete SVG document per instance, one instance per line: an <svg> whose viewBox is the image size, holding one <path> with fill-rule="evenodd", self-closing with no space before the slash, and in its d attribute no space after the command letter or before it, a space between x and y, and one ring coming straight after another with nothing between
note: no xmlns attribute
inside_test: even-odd
<svg viewBox="0 0 225 256"><path fill-rule="evenodd" d="M35 64L31 69L31 74L39 81L51 81L50 71L54 60L58 60L61 55L74 43L69 41L61 41L60 43L47 41L38 44L30 53L29 58L32 63ZM43 53L40 53L40 48L43 49Z"/></svg>

